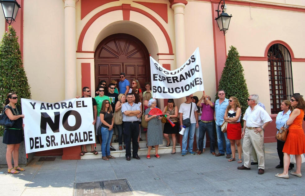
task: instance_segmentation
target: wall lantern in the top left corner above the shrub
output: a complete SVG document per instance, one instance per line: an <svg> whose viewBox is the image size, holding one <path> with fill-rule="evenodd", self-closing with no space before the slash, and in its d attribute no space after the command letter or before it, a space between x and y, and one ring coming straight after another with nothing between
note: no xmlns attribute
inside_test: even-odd
<svg viewBox="0 0 305 196"><path fill-rule="evenodd" d="M6 22L12 24L17 16L20 5L16 0L0 0Z"/></svg>

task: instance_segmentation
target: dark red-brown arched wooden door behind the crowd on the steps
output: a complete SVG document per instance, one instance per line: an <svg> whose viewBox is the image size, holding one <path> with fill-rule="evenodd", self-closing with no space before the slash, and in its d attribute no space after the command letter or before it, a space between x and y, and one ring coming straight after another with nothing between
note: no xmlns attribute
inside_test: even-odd
<svg viewBox="0 0 305 196"><path fill-rule="evenodd" d="M94 53L95 86L101 80L107 85L112 79L120 81L120 73L126 74L130 84L133 79L144 83L150 81L149 53L145 45L136 37L117 33L103 39Z"/></svg>

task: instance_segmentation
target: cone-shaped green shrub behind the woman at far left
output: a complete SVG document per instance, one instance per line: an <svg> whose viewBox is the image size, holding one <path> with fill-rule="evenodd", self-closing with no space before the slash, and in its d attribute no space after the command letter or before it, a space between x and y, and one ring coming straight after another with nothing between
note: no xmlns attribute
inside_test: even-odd
<svg viewBox="0 0 305 196"><path fill-rule="evenodd" d="M21 98L31 99L31 91L23 68L20 46L16 31L12 26L4 33L0 42L0 111L2 113L4 100L10 92L18 95L17 107L21 110ZM0 136L3 127L0 126Z"/></svg>

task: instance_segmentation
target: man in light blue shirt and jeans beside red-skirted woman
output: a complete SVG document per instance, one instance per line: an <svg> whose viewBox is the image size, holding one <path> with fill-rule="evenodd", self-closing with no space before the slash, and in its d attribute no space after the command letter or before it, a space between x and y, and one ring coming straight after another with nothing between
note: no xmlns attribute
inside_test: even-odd
<svg viewBox="0 0 305 196"><path fill-rule="evenodd" d="M224 116L225 116L225 110L227 109L229 105L229 100L225 98L225 91L224 90L219 90L218 91L218 97L215 101L215 112L214 112L214 120L216 122L216 133L217 133L217 143L218 143L218 150L219 153L216 154L216 157L224 156L225 155L225 150L223 148L223 140L222 136L225 136L225 148L227 151L227 156L226 158L231 158L231 144L230 140L227 138L227 133L223 133L221 131L221 125L224 121ZM234 152L235 153L235 152Z"/></svg>

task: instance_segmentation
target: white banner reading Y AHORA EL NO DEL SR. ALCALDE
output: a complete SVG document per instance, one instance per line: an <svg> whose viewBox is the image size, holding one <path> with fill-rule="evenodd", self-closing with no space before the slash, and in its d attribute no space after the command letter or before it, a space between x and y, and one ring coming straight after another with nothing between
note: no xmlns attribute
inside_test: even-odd
<svg viewBox="0 0 305 196"><path fill-rule="evenodd" d="M21 104L26 153L95 143L91 97Z"/></svg>

